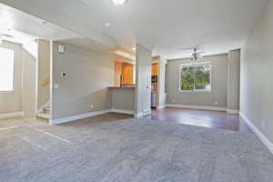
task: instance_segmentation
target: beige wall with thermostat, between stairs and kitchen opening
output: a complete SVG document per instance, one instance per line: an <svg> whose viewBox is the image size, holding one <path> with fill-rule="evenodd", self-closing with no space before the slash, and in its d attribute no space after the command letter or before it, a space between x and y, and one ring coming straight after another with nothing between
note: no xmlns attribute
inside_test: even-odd
<svg viewBox="0 0 273 182"><path fill-rule="evenodd" d="M59 54L57 46L52 45L52 79L59 86L52 91L52 119L111 108L107 86L114 85L113 59L71 45Z"/></svg>

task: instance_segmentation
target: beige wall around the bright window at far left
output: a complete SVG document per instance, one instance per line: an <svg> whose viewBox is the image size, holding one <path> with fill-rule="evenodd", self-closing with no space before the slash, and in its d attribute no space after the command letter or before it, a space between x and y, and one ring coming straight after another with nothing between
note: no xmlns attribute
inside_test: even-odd
<svg viewBox="0 0 273 182"><path fill-rule="evenodd" d="M22 45L4 41L2 47L14 50L14 91L0 93L0 113L24 111L26 116L35 115L35 64Z"/></svg>

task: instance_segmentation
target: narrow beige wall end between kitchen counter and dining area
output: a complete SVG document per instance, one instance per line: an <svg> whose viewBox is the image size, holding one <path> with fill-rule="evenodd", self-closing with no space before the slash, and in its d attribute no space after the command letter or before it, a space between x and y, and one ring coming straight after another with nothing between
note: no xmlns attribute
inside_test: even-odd
<svg viewBox="0 0 273 182"><path fill-rule="evenodd" d="M136 45L136 114L151 110L152 53L143 45Z"/></svg>

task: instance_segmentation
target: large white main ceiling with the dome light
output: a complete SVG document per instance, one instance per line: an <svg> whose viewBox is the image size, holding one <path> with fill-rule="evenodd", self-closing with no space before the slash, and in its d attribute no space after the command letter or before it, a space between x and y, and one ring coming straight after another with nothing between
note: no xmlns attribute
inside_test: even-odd
<svg viewBox="0 0 273 182"><path fill-rule="evenodd" d="M168 59L202 44L207 55L241 47L268 0L0 0L109 46L136 42ZM104 25L112 26L106 28ZM111 37L114 37L116 41Z"/></svg>

